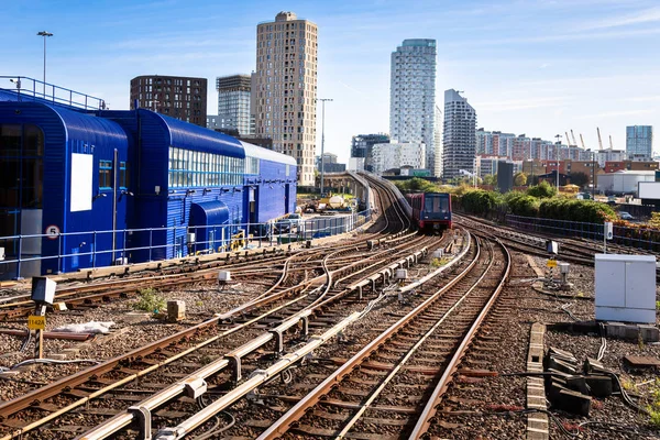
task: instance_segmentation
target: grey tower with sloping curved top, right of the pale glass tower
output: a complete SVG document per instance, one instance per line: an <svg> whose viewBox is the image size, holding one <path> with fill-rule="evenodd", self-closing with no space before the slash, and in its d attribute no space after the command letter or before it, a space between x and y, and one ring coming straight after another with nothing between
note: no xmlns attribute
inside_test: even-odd
<svg viewBox="0 0 660 440"><path fill-rule="evenodd" d="M476 112L454 89L444 91L442 162L444 179L474 174Z"/></svg>

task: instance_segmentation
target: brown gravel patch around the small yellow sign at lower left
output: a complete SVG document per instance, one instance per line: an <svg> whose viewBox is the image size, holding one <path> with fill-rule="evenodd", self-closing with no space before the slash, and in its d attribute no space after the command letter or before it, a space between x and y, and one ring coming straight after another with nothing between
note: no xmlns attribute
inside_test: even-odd
<svg viewBox="0 0 660 440"><path fill-rule="evenodd" d="M112 331L106 336L97 336L91 341L44 340L44 358L61 353L66 349L77 349L67 355L67 360L106 360L125 353L147 342L155 341L166 336L196 324L217 312L223 312L237 307L263 292L263 286L251 286L248 283L237 283L219 292L216 286L197 285L182 290L158 294L167 300L183 300L186 302L186 319L177 323L169 323L164 319L156 319L153 314L135 310L138 298L113 300L101 307L86 310L70 310L51 314L46 317L46 331L69 323L84 323L89 321L112 321ZM21 323L3 323L3 329L25 329ZM2 354L0 366L11 366L32 358L33 344L24 352L19 352L22 338L0 334ZM89 363L72 364L40 364L19 367L16 373L0 375L0 399L9 400L25 392L37 387L38 384L52 382L59 377L73 374ZM9 378L9 380L8 380ZM20 382L19 382L20 381Z"/></svg>

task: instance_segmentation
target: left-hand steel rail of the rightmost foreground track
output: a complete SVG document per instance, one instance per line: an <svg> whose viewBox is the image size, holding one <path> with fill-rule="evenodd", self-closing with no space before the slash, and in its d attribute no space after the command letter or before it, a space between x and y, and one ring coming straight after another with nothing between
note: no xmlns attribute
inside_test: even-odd
<svg viewBox="0 0 660 440"><path fill-rule="evenodd" d="M465 267L460 274L458 274L453 279L451 279L447 285L437 290L433 295L427 298L424 302L408 312L405 317L399 319L397 322L392 324L387 330L381 333L376 339L372 340L367 345L365 345L360 352L358 352L353 358L348 360L342 366L340 366L337 371L334 371L330 376L328 376L322 383L320 383L315 389L312 389L309 394L307 394L302 399L300 399L293 408L290 408L285 415L283 415L278 420L276 420L266 431L264 431L257 440L266 440L266 439L276 439L284 435L289 427L297 420L299 420L305 413L316 405L323 395L326 395L337 383L339 383L344 376L350 374L353 370L355 370L362 362L364 362L371 354L373 354L380 346L385 344L397 331L399 331L404 326L406 326L409 321L411 321L419 314L425 311L432 302L435 302L441 295L451 289L457 283L463 279L468 273L476 265L479 261L481 250L479 243L475 242L475 255L474 258L470 262L468 267Z"/></svg>

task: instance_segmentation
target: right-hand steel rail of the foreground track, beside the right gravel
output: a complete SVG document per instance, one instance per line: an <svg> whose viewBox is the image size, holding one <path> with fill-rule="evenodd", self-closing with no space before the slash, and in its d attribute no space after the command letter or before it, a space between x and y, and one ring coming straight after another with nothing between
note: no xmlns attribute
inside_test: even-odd
<svg viewBox="0 0 660 440"><path fill-rule="evenodd" d="M459 345L459 349L457 350L457 352L452 356L451 361L449 362L447 370L440 377L440 381L436 385L436 388L433 389L431 397L429 398L427 405L425 406L424 410L421 411L421 415L419 416L419 419L417 420L417 424L415 425L415 428L413 429L413 432L410 433L410 439L420 439L421 436L428 430L430 422L431 422L431 418L435 417L435 415L436 415L436 408L437 408L438 404L440 403L442 395L447 392L447 388L449 387L449 384L452 381L453 375L458 371L460 362L462 361L463 356L468 352L468 349L470 348L472 340L474 339L477 330L480 329L482 322L484 321L484 319L491 311L491 308L493 307L493 305L499 297L499 293L504 289L504 285L505 285L506 280L508 279L510 268L512 268L512 254L498 239L495 239L495 241L502 246L502 249L504 250L504 253L506 254L506 271L504 273L504 276L497 284L497 287L495 288L494 294L491 296L491 299L488 299L488 302L486 302L486 305L482 309L481 314L479 314L479 317L476 317L476 319L474 320L474 323L470 328L468 336L463 339L463 342L461 342L461 345Z"/></svg>

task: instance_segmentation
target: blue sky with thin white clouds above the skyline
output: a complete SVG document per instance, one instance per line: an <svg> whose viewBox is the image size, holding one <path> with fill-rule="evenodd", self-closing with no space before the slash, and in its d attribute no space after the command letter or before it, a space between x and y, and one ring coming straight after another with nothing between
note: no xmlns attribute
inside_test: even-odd
<svg viewBox="0 0 660 440"><path fill-rule="evenodd" d="M343 161L351 135L388 132L389 56L416 37L438 41L440 108L443 90L464 90L486 130L573 129L597 147L600 127L615 148L626 125L660 130L658 0L7 1L0 75L42 78L46 30L48 82L125 109L135 76L206 77L211 114L216 76L254 69L256 23L280 10L319 25L326 150Z"/></svg>

